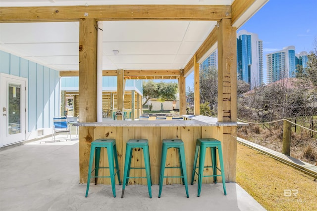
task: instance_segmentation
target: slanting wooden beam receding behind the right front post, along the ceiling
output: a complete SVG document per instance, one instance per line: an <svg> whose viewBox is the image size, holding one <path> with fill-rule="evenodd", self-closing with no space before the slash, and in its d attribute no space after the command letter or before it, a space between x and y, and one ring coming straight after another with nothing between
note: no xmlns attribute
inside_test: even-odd
<svg viewBox="0 0 317 211"><path fill-rule="evenodd" d="M217 31L218 31L218 27L214 27L211 33L208 35L207 39L195 52L194 56L196 56L196 61L199 61L207 53L207 51L217 42ZM194 56L185 66L184 76L188 76L190 70L193 68Z"/></svg>

